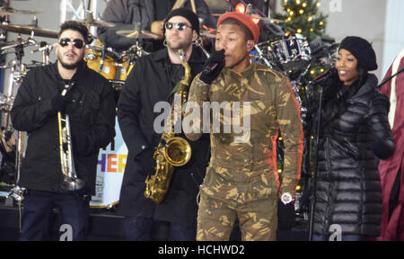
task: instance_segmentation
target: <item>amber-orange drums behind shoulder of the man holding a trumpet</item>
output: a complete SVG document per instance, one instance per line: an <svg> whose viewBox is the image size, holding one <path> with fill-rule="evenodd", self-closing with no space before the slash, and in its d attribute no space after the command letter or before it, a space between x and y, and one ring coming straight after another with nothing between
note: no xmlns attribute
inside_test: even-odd
<svg viewBox="0 0 404 259"><path fill-rule="evenodd" d="M100 40L97 40L97 45L89 47L87 57L85 58L87 66L105 78L114 80L117 73L117 67L114 66L115 59L106 54L101 66L101 50L102 44Z"/></svg>

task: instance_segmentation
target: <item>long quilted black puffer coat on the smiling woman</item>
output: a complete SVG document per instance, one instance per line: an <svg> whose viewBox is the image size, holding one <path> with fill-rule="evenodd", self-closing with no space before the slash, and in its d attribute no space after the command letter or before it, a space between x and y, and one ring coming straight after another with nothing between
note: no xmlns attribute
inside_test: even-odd
<svg viewBox="0 0 404 259"><path fill-rule="evenodd" d="M336 76L329 80L340 84ZM324 105L315 235L329 235L333 224L343 235L380 234L382 186L375 156L391 156L395 144L387 119L390 103L376 90L375 76L368 75L364 82L351 85L356 92L347 99Z"/></svg>

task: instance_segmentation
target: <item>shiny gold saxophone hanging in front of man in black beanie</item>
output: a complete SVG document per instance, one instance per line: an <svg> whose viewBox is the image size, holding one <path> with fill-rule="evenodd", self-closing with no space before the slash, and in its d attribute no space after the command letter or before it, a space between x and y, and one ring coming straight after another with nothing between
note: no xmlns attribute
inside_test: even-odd
<svg viewBox="0 0 404 259"><path fill-rule="evenodd" d="M189 81L191 78L189 64L185 61L185 53L183 50L179 52L185 73L179 85L177 85L178 91L175 92L174 101L171 103L171 113L164 126L159 146L156 147L154 151L153 158L156 163L155 174L151 176L147 175L145 180L145 198L154 201L156 204L164 200L175 167L186 165L191 156L189 142L185 138L175 137L174 133L174 126L179 116L182 116L182 108L187 101ZM176 97L181 100L180 107L175 106L177 103L175 102Z"/></svg>

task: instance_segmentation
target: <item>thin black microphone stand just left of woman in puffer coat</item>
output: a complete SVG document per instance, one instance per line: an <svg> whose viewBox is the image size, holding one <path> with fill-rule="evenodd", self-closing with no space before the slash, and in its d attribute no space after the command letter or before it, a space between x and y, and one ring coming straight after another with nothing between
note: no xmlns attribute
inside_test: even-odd
<svg viewBox="0 0 404 259"><path fill-rule="evenodd" d="M319 112L317 117L317 138L316 138L316 153L315 153L315 162L314 162L314 175L312 178L313 181L313 189L312 189L312 197L311 197L311 209L310 209L310 225L309 225L309 241L312 241L312 230L314 227L314 209L316 206L316 189L317 189L317 172L319 165L319 144L320 144L320 129L321 129L321 109L322 109L322 86L320 86L320 103L319 103Z"/></svg>

